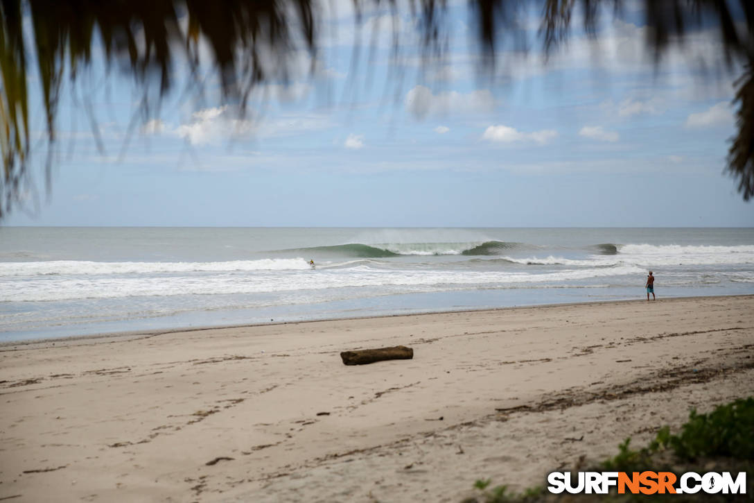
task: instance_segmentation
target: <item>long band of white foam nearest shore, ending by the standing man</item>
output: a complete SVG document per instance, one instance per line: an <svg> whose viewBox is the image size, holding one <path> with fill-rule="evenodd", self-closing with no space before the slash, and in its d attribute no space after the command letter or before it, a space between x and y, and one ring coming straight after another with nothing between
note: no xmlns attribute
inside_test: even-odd
<svg viewBox="0 0 754 503"><path fill-rule="evenodd" d="M308 266L306 267L308 269ZM361 265L348 269L307 272L268 270L254 274L207 276L37 276L0 282L0 301L63 301L81 298L233 295L360 287L422 286L440 291L453 285L495 288L520 283L565 282L602 276L639 274L640 267L562 270L550 273L453 270L375 270Z"/></svg>

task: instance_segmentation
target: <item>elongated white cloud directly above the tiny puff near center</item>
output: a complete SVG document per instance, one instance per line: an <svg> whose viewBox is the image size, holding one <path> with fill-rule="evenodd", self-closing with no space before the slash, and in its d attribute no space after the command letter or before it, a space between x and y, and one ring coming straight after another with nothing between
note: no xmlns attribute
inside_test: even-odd
<svg viewBox="0 0 754 503"><path fill-rule="evenodd" d="M442 115L450 112L482 112L495 106L495 97L488 89L480 89L467 94L446 91L434 94L430 88L417 85L406 93L406 110L419 119L428 115Z"/></svg>

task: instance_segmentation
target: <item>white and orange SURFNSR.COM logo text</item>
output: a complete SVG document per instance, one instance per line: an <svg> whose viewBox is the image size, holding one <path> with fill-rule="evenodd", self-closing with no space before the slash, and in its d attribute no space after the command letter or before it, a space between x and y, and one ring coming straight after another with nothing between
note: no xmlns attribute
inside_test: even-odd
<svg viewBox="0 0 754 503"><path fill-rule="evenodd" d="M618 494L746 494L746 472L738 474L724 471L697 474L688 471L677 477L670 471L553 471L547 476L547 490L554 494L607 494L611 487Z"/></svg>

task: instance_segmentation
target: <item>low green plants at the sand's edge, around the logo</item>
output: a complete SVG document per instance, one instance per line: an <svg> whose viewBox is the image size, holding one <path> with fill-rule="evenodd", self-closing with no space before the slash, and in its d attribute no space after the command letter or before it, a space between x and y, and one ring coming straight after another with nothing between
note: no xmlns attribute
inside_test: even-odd
<svg viewBox="0 0 754 503"><path fill-rule="evenodd" d="M584 471L672 471L679 474L686 471L705 473L707 471L746 471L754 473L754 397L735 400L718 406L709 414L697 414L692 410L688 421L682 425L679 434L670 434L670 427L664 426L648 446L632 450L631 439L627 438L618 446L618 455ZM751 477L749 484L751 483ZM479 491L475 498L463 503L528 503L529 501L556 501L559 495L547 492L546 487L534 487L517 494L507 486L489 489L492 480L477 480L474 487ZM750 488L743 500L754 499ZM572 497L562 496L562 498ZM641 498L634 495L581 495L581 498L609 499L620 498L633 501ZM722 501L725 495L655 495L654 501Z"/></svg>

